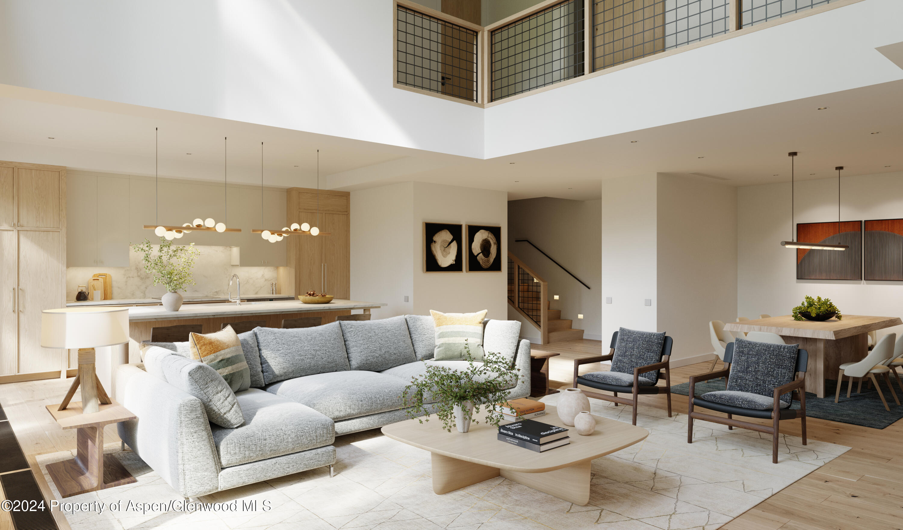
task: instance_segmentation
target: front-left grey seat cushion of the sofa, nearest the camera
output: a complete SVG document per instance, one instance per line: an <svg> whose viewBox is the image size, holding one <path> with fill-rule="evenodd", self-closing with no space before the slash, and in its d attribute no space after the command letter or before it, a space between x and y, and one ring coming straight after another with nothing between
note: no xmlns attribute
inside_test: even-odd
<svg viewBox="0 0 903 530"><path fill-rule="evenodd" d="M236 397L245 423L235 429L210 426L224 468L335 441L332 420L308 406L256 388L238 392Z"/></svg>

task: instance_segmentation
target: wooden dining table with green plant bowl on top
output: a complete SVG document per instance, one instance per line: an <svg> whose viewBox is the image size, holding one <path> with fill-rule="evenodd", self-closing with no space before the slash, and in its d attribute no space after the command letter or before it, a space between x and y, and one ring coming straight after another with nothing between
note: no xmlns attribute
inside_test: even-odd
<svg viewBox="0 0 903 530"><path fill-rule="evenodd" d="M730 322L725 331L768 331L787 344L809 353L805 391L824 397L824 380L836 379L843 363L862 360L869 353L869 331L903 324L898 317L843 315L842 320L795 321L792 315L755 321Z"/></svg>

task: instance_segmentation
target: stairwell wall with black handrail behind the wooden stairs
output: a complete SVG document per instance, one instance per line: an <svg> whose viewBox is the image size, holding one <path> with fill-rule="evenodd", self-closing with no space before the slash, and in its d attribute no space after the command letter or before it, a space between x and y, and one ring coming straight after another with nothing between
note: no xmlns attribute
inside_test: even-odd
<svg viewBox="0 0 903 530"><path fill-rule="evenodd" d="M508 248L549 283L552 309L573 320L573 328L584 330L584 339L601 338L601 200L567 200L541 197L508 201ZM569 271L590 285L587 289L549 258L526 243L529 239ZM559 300L554 300L554 295ZM512 314L513 313L513 314ZM578 314L583 319L577 318ZM508 317L518 317L509 309ZM539 331L524 324L522 335L538 340Z"/></svg>

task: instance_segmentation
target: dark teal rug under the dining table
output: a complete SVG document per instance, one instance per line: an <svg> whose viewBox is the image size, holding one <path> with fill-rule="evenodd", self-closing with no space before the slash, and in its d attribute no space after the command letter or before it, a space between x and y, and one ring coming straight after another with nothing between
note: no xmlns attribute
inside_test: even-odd
<svg viewBox="0 0 903 530"><path fill-rule="evenodd" d="M897 381L893 382L894 390L900 397L900 389ZM834 403L834 392L837 389L837 382L833 379L824 381L825 396L822 398L815 397L815 394L805 393L805 415L809 418L820 418L822 420L830 420L832 422L850 423L852 425L861 425L863 427L871 427L872 429L883 429L903 418L903 406L894 402L894 398L890 395L888 386L881 382L881 392L884 398L888 400L890 412L884 410L881 399L875 389L867 389L868 383L862 383L862 393L856 394L856 384L852 386L852 395L846 396L846 382L841 388L840 402ZM711 379L697 383L696 396L705 394L706 392L714 392L716 390L724 390L724 379ZM675 385L671 387L672 394L689 395L690 384ZM903 401L901 401L903 403ZM799 402L793 402L792 408L799 408Z"/></svg>

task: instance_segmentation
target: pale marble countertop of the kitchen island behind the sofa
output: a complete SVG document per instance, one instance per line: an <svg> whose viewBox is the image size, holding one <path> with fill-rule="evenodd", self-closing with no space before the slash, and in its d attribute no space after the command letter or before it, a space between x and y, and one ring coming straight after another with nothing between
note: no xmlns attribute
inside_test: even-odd
<svg viewBox="0 0 903 530"><path fill-rule="evenodd" d="M191 303L183 304L179 311L166 311L162 305L144 305L129 308L128 320L172 321L176 319L200 319L236 315L259 315L289 312L346 311L351 309L376 309L388 305L385 302L357 302L333 300L329 303L303 303L299 300L273 302Z"/></svg>

